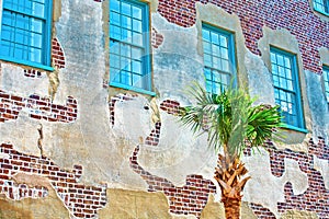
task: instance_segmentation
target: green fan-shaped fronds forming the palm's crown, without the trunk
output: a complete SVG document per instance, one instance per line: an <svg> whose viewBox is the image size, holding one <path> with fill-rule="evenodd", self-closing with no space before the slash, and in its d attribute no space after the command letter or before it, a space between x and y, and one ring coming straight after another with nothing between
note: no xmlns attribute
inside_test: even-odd
<svg viewBox="0 0 329 219"><path fill-rule="evenodd" d="M229 159L240 157L246 140L251 147L262 146L272 138L275 129L283 127L279 106L253 106L245 91L228 89L220 94L211 94L198 83L189 88L194 106L183 110L181 122L194 134L208 134L208 146L216 151L227 147Z"/></svg>

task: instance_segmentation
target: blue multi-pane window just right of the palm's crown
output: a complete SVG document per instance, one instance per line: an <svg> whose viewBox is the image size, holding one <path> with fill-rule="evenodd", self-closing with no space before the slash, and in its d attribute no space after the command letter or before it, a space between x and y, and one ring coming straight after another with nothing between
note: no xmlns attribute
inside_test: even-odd
<svg viewBox="0 0 329 219"><path fill-rule="evenodd" d="M271 48L275 103L281 106L283 122L292 129L304 129L296 57ZM305 130L305 129L304 129Z"/></svg>

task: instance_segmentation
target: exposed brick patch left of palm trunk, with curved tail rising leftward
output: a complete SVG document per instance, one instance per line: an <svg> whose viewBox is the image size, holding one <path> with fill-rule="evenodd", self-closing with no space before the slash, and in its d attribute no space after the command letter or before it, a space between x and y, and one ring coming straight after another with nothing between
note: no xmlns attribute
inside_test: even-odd
<svg viewBox="0 0 329 219"><path fill-rule="evenodd" d="M148 184L149 192L163 192L169 200L170 212L178 215L194 215L201 217L208 195L216 193L216 186L212 181L203 178L202 175L188 175L186 184L182 187L174 186L170 181L152 175L145 171L137 162L139 146L131 157L131 166Z"/></svg>

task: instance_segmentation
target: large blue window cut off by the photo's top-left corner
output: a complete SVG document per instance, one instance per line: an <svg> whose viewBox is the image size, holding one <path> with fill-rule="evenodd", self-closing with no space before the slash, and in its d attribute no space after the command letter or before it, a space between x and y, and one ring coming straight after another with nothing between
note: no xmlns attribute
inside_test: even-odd
<svg viewBox="0 0 329 219"><path fill-rule="evenodd" d="M52 0L3 0L0 59L50 68Z"/></svg>

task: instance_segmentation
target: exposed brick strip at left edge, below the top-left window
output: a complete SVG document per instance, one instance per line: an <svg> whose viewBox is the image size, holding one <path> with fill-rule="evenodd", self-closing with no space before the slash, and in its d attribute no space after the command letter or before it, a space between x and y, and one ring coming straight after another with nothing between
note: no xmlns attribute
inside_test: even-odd
<svg viewBox="0 0 329 219"><path fill-rule="evenodd" d="M66 105L58 105L36 94L21 97L0 90L0 123L16 119L21 111L27 112L34 119L71 123L78 116L77 104L72 96L68 96Z"/></svg>

